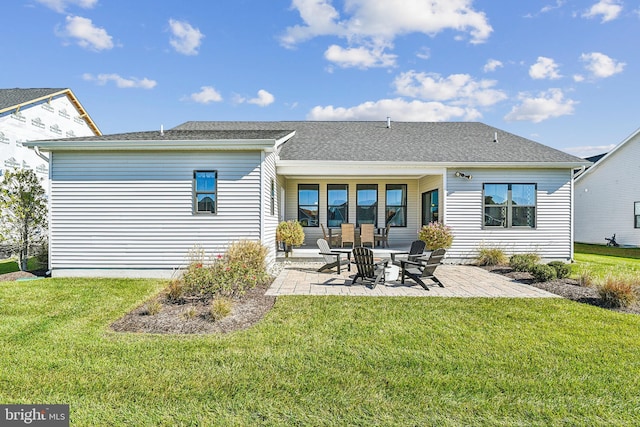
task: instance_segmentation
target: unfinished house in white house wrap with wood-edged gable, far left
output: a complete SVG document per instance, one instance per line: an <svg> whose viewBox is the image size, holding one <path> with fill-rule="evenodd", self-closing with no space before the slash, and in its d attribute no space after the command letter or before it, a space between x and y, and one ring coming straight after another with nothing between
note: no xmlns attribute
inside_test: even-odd
<svg viewBox="0 0 640 427"><path fill-rule="evenodd" d="M71 89L0 89L0 176L32 169L48 189L48 159L23 143L94 135L100 130Z"/></svg>

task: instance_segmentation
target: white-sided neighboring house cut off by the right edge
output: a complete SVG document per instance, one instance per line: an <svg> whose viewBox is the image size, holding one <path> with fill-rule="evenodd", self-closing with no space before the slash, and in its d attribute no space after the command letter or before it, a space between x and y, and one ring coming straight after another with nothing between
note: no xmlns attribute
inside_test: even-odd
<svg viewBox="0 0 640 427"><path fill-rule="evenodd" d="M640 129L580 174L575 188L575 241L640 246Z"/></svg>

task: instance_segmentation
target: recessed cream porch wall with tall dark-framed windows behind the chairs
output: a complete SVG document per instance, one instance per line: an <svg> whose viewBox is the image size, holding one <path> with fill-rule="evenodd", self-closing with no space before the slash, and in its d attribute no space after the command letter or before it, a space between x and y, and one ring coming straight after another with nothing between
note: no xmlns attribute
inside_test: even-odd
<svg viewBox="0 0 640 427"><path fill-rule="evenodd" d="M321 225L327 233L340 233L342 223L354 224L356 235L360 224L374 224L376 229L390 224L388 247L374 247L375 256L388 258L391 251L407 251L422 225L444 219L445 171L412 172L404 177L397 173L384 177L281 177L283 219L300 221L305 233L304 244L293 248L287 259L320 259L316 241L324 237ZM284 260L283 248L278 249L277 259Z"/></svg>

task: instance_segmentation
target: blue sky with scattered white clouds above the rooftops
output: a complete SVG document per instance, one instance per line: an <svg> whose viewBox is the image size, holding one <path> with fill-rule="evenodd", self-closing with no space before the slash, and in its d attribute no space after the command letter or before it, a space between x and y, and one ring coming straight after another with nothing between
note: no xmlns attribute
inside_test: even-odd
<svg viewBox="0 0 640 427"><path fill-rule="evenodd" d="M629 0L13 0L2 87L105 134L189 120L481 121L579 156L640 126Z"/></svg>

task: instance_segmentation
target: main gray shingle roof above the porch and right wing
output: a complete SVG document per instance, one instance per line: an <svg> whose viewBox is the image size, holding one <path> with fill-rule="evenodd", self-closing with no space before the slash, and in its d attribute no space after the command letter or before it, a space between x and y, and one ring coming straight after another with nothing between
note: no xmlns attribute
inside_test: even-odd
<svg viewBox="0 0 640 427"><path fill-rule="evenodd" d="M176 130L281 130L282 160L579 163L584 159L478 122L186 122ZM497 133L497 141L494 141Z"/></svg>

